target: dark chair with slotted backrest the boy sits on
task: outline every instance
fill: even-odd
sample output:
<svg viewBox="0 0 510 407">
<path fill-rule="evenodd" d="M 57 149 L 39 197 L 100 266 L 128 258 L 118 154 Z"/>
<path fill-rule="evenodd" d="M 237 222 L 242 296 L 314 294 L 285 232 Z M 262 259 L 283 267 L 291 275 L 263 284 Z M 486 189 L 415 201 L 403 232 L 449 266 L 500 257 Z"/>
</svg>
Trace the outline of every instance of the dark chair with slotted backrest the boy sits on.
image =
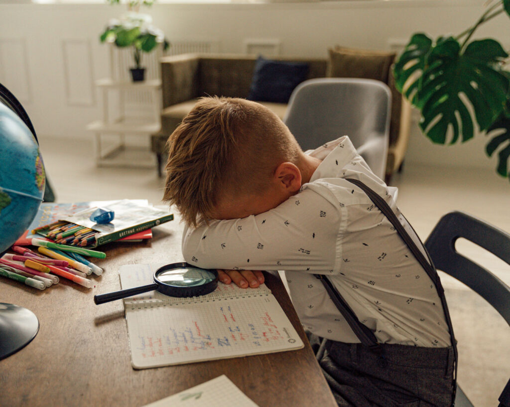
<svg viewBox="0 0 510 407">
<path fill-rule="evenodd" d="M 455 241 L 458 238 L 465 238 L 477 244 L 510 265 L 510 234 L 465 213 L 451 212 L 439 220 L 425 242 L 438 270 L 442 270 L 472 288 L 510 325 L 510 287 L 489 270 L 459 254 L 455 250 Z M 507 351 L 508 344 L 503 346 Z M 499 396 L 499 402 L 501 407 L 510 406 L 510 380 Z M 455 406 L 473 407 L 458 385 Z"/>
</svg>

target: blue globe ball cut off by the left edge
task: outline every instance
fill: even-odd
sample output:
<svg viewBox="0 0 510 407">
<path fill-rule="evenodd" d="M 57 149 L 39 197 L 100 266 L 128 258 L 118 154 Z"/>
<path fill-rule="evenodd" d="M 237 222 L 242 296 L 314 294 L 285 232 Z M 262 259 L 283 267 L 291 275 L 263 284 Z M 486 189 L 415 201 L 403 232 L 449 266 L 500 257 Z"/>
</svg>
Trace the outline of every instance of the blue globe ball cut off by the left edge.
<svg viewBox="0 0 510 407">
<path fill-rule="evenodd" d="M 0 99 L 0 253 L 12 246 L 35 218 L 45 181 L 37 140 Z"/>
</svg>

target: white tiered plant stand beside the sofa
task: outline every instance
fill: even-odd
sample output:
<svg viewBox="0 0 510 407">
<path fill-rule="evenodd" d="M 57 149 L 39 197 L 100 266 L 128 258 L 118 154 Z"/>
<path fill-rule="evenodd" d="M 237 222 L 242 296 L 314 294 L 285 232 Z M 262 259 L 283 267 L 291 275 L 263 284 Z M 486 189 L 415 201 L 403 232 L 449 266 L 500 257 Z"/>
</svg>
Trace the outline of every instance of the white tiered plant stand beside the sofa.
<svg viewBox="0 0 510 407">
<path fill-rule="evenodd" d="M 150 151 L 150 135 L 161 129 L 162 47 L 144 54 L 145 80 L 133 82 L 129 68 L 132 53 L 110 44 L 110 77 L 95 82 L 103 99 L 103 118 L 90 123 L 94 134 L 97 166 L 154 168 L 157 158 Z"/>
</svg>

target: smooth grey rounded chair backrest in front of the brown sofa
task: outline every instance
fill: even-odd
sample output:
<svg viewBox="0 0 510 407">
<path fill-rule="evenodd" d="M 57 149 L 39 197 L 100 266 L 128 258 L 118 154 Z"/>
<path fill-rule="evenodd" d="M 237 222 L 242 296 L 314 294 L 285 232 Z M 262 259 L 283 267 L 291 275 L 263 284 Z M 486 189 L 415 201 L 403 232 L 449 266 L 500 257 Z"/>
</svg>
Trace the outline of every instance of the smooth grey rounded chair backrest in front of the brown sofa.
<svg viewBox="0 0 510 407">
<path fill-rule="evenodd" d="M 384 179 L 388 155 L 391 92 L 383 82 L 319 78 L 292 93 L 284 123 L 303 150 L 348 135 L 372 171 Z"/>
</svg>

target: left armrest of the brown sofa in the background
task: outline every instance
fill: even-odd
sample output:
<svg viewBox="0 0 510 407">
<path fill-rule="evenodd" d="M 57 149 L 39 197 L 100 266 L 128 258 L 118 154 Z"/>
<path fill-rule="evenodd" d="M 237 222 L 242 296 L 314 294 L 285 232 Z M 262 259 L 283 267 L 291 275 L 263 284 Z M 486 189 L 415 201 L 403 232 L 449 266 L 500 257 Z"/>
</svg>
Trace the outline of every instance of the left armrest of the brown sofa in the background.
<svg viewBox="0 0 510 407">
<path fill-rule="evenodd" d="M 198 97 L 199 54 L 166 56 L 161 59 L 163 108 Z"/>
</svg>

